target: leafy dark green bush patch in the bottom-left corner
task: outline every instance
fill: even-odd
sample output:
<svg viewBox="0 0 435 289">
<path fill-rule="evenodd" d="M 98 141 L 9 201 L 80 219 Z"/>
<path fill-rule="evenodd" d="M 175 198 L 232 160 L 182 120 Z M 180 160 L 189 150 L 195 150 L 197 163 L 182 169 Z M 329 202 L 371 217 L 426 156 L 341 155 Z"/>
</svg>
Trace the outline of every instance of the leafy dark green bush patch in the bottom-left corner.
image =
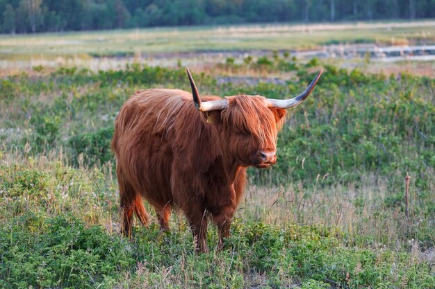
<svg viewBox="0 0 435 289">
<path fill-rule="evenodd" d="M 15 222 L 0 231 L 1 288 L 107 288 L 135 264 L 127 240 L 73 216 Z"/>
</svg>

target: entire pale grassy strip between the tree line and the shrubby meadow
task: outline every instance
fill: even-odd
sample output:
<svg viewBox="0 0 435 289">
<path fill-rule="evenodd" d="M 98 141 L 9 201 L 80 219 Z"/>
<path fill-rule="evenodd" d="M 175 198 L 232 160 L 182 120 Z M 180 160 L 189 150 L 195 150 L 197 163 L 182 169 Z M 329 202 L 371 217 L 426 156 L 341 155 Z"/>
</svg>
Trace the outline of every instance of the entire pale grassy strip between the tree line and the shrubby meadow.
<svg viewBox="0 0 435 289">
<path fill-rule="evenodd" d="M 341 24 L 263 24 L 150 28 L 38 35 L 0 35 L 0 76 L 31 71 L 33 67 L 86 67 L 92 71 L 124 69 L 133 62 L 150 66 L 195 68 L 208 73 L 227 58 L 243 63 L 247 55 L 260 58 L 273 51 L 308 61 L 336 44 L 347 49 L 435 43 L 435 22 L 358 22 Z M 309 53 L 308 55 L 306 53 Z M 354 55 L 322 56 L 324 61 L 364 73 L 413 73 L 432 76 L 435 61 L 382 62 Z M 220 71 L 231 74 L 231 71 Z M 240 73 L 241 71 L 238 71 Z M 244 75 L 253 71 L 243 71 Z M 275 71 L 268 71 L 274 73 Z M 276 73 L 274 73 L 276 74 Z M 258 77 L 254 74 L 250 76 Z M 275 76 L 275 75 L 274 75 Z M 278 73 L 282 77 L 282 73 Z"/>
</svg>

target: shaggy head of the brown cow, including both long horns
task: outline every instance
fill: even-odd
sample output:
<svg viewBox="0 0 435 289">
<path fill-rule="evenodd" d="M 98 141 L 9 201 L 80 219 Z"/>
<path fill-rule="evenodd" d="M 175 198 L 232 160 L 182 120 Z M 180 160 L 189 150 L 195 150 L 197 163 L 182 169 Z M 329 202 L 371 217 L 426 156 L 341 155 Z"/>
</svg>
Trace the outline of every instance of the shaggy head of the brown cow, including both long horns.
<svg viewBox="0 0 435 289">
<path fill-rule="evenodd" d="M 229 153 L 242 166 L 257 168 L 267 168 L 277 161 L 277 132 L 286 109 L 302 103 L 322 74 L 320 71 L 302 94 L 291 99 L 240 95 L 203 102 L 190 71 L 186 71 L 195 107 L 204 112 L 209 123 L 220 128 L 224 153 Z"/>
</svg>

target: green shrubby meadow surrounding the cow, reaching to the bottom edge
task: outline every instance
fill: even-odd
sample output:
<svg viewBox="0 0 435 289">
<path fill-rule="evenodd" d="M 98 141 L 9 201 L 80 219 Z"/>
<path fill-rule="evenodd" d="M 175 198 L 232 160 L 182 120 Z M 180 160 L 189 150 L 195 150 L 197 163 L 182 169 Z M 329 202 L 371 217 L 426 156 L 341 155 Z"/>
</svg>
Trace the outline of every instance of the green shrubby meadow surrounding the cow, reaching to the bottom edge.
<svg viewBox="0 0 435 289">
<path fill-rule="evenodd" d="M 224 250 L 212 226 L 204 254 L 181 213 L 161 232 L 148 205 L 150 227 L 136 222 L 133 239 L 122 237 L 110 152 L 124 100 L 148 87 L 188 90 L 183 67 L 3 71 L 0 287 L 434 288 L 433 76 L 286 53 L 192 72 L 203 94 L 287 98 L 320 68 L 313 94 L 288 112 L 277 164 L 249 169 Z M 246 75 L 254 80 L 235 78 Z"/>
</svg>

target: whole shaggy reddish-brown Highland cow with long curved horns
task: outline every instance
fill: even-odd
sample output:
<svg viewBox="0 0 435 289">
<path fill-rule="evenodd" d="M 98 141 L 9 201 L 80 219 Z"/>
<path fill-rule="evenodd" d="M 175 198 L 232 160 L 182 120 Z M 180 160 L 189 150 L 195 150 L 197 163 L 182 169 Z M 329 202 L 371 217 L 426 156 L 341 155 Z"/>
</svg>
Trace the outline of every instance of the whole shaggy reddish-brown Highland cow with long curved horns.
<svg viewBox="0 0 435 289">
<path fill-rule="evenodd" d="M 145 198 L 163 230 L 169 229 L 172 207 L 181 209 L 196 248 L 204 252 L 208 218 L 217 225 L 222 246 L 245 189 L 247 167 L 266 168 L 277 161 L 277 132 L 286 108 L 309 96 L 322 71 L 299 96 L 275 100 L 247 95 L 199 98 L 186 70 L 192 94 L 145 89 L 126 100 L 115 121 L 112 149 L 123 233 L 131 234 L 133 212 L 147 225 Z"/>
</svg>

